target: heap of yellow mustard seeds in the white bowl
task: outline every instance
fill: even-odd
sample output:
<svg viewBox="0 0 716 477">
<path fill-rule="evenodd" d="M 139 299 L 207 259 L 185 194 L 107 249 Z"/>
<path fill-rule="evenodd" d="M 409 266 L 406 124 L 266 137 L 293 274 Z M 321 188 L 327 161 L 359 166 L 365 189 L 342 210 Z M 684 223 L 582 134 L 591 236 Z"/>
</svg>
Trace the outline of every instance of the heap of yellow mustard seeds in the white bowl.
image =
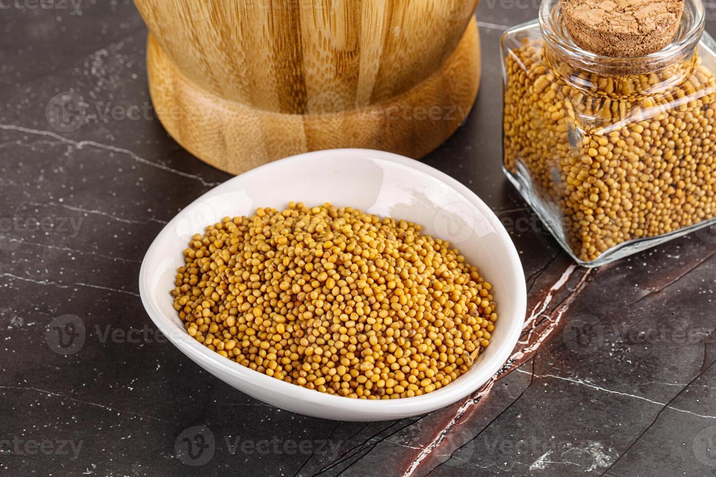
<svg viewBox="0 0 716 477">
<path fill-rule="evenodd" d="M 352 207 L 258 209 L 194 235 L 171 290 L 199 343 L 322 393 L 407 398 L 490 344 L 491 285 L 449 242 Z"/>
</svg>

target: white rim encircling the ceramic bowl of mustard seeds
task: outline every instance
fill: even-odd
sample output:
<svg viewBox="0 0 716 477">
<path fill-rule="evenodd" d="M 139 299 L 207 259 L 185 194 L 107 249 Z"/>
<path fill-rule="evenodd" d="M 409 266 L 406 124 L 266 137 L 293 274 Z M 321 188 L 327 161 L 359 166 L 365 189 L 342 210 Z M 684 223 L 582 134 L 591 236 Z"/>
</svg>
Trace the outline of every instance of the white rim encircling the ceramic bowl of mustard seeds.
<svg viewBox="0 0 716 477">
<path fill-rule="evenodd" d="M 224 358 L 216 353 L 216 351 L 210 350 L 204 345 L 198 343 L 198 341 L 188 335 L 188 333 L 177 333 L 177 330 L 173 328 L 172 324 L 165 322 L 165 314 L 155 306 L 155 303 L 153 303 L 152 300 L 154 294 L 150 292 L 151 287 L 147 279 L 147 262 L 153 255 L 162 253 L 159 250 L 160 239 L 162 239 L 165 235 L 168 235 L 170 231 L 173 230 L 174 225 L 178 222 L 178 220 L 180 220 L 181 212 L 178 212 L 178 214 L 175 215 L 175 217 L 173 217 L 162 230 L 160 230 L 147 249 L 145 257 L 142 260 L 142 266 L 139 274 L 139 289 L 142 305 L 144 305 L 147 314 L 159 330 L 168 338 L 170 343 L 175 345 L 182 353 L 195 361 L 195 363 L 198 363 L 205 370 L 208 370 L 207 368 L 221 370 L 221 372 L 234 375 L 238 379 L 247 381 L 251 380 L 254 385 L 263 388 L 263 390 L 276 391 L 277 396 L 291 394 L 296 399 L 296 402 L 306 402 L 316 406 L 324 405 L 326 406 L 326 409 L 348 408 L 356 413 L 383 415 L 386 418 L 390 418 L 391 415 L 394 415 L 399 411 L 405 411 L 407 408 L 410 408 L 412 415 L 426 413 L 430 410 L 435 410 L 437 408 L 442 408 L 445 405 L 455 403 L 456 401 L 464 398 L 466 395 L 470 395 L 475 392 L 475 390 L 478 390 L 482 385 L 487 383 L 488 380 L 490 380 L 490 378 L 492 378 L 493 375 L 495 375 L 495 373 L 503 367 L 509 359 L 512 350 L 517 345 L 526 316 L 527 292 L 522 263 L 507 230 L 505 230 L 505 227 L 503 227 L 502 223 L 498 220 L 495 212 L 493 212 L 490 207 L 488 207 L 488 205 L 486 205 L 485 202 L 478 197 L 478 195 L 469 190 L 468 187 L 465 187 L 465 185 L 458 182 L 458 180 L 455 180 L 453 177 L 448 176 L 448 174 L 440 172 L 434 167 L 430 167 L 429 165 L 417 161 L 416 159 L 410 159 L 408 157 L 392 154 L 390 152 L 378 151 L 374 149 L 324 149 L 320 151 L 306 152 L 304 154 L 297 154 L 284 159 L 278 159 L 274 162 L 269 162 L 251 169 L 243 174 L 231 177 L 231 179 L 223 182 L 221 185 L 213 187 L 203 195 L 200 195 L 200 197 L 197 197 L 195 200 L 190 202 L 190 204 L 186 205 L 183 210 L 186 210 L 188 207 L 191 207 L 197 202 L 203 202 L 208 197 L 216 195 L 223 190 L 230 189 L 232 187 L 232 183 L 250 180 L 251 177 L 261 174 L 266 169 L 281 167 L 289 162 L 305 161 L 314 157 L 326 155 L 332 155 L 336 157 L 337 160 L 370 159 L 373 161 L 392 162 L 394 164 L 400 164 L 403 167 L 415 169 L 417 172 L 427 174 L 433 179 L 451 187 L 455 190 L 455 192 L 458 192 L 459 195 L 463 196 L 464 200 L 477 209 L 480 214 L 490 220 L 495 232 L 498 234 L 500 242 L 505 245 L 507 252 L 504 257 L 505 269 L 510 270 L 510 272 L 515 275 L 514 281 L 516 282 L 516 289 L 511 290 L 510 292 L 513 296 L 513 300 L 515 300 L 514 310 L 518 317 L 514 321 L 514 324 L 511 325 L 511 328 L 508 328 L 507 335 L 505 335 L 505 339 L 500 345 L 498 353 L 490 359 L 489 364 L 483 365 L 482 369 L 480 369 L 478 373 L 470 376 L 461 376 L 463 380 L 455 380 L 449 385 L 437 389 L 432 393 L 413 396 L 410 398 L 370 400 L 347 398 L 339 395 L 321 393 L 318 390 L 312 390 L 299 385 L 286 383 L 283 380 L 278 380 L 269 375 L 259 373 L 256 370 L 252 370 L 251 368 L 236 363 L 236 361 Z M 178 316 L 169 317 L 169 320 L 172 321 L 178 319 Z M 213 374 L 211 371 L 210 373 Z M 269 401 L 269 403 L 271 402 Z M 279 405 L 279 407 L 281 406 Z"/>
</svg>

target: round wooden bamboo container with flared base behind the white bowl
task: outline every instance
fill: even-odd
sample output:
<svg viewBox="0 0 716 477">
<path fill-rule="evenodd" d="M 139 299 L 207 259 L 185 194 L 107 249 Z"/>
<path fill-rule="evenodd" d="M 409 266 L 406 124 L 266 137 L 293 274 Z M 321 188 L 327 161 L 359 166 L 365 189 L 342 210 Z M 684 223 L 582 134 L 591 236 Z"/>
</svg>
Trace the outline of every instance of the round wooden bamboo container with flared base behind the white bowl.
<svg viewBox="0 0 716 477">
<path fill-rule="evenodd" d="M 233 174 L 317 149 L 435 149 L 478 93 L 477 3 L 135 0 L 158 117 Z"/>
</svg>

